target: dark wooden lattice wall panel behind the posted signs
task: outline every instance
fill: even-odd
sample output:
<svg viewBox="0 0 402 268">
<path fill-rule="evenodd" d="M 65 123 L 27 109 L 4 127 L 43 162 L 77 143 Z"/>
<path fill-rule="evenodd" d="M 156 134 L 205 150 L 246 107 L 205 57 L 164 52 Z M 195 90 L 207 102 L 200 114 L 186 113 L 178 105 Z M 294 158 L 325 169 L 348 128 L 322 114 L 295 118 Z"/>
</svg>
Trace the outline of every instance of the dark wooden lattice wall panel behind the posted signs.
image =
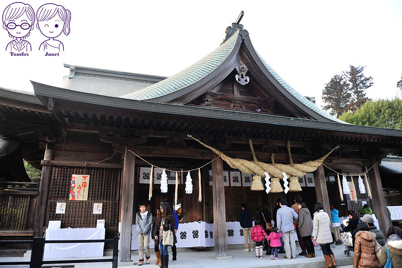
<svg viewBox="0 0 402 268">
<path fill-rule="evenodd" d="M 69 200 L 72 174 L 90 175 L 88 200 Z M 120 169 L 55 167 L 49 195 L 49 221 L 61 221 L 62 228 L 106 227 L 119 224 Z M 65 202 L 65 214 L 56 214 L 57 202 Z M 102 203 L 102 214 L 93 214 L 94 203 Z"/>
</svg>

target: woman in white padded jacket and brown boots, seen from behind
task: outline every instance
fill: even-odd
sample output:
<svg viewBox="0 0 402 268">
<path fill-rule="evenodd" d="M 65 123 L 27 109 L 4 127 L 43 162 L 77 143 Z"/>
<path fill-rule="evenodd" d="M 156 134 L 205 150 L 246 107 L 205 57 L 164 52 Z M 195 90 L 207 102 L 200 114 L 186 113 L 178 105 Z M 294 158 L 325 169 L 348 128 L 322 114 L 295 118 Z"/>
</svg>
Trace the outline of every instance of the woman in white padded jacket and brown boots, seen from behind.
<svg viewBox="0 0 402 268">
<path fill-rule="evenodd" d="M 312 235 L 323 250 L 324 258 L 327 265 L 324 268 L 337 267 L 337 262 L 335 261 L 334 252 L 331 250 L 331 243 L 334 241 L 331 234 L 331 220 L 330 216 L 324 212 L 324 207 L 321 203 L 315 203 L 314 205 L 314 218 L 312 224 Z M 332 261 L 332 264 L 331 264 Z"/>
</svg>

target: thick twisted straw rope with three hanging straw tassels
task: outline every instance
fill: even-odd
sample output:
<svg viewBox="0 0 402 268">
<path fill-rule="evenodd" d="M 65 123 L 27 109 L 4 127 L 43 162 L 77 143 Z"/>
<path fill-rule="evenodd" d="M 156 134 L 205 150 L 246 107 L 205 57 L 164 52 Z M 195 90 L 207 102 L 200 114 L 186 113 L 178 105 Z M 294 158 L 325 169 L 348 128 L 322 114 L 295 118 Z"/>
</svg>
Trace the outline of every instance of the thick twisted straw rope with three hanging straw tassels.
<svg viewBox="0 0 402 268">
<path fill-rule="evenodd" d="M 258 175 L 258 176 L 260 176 L 262 178 L 267 177 L 265 175 L 265 172 L 268 172 L 270 174 L 270 177 L 271 177 L 271 185 L 270 185 L 270 187 L 271 187 L 272 192 L 281 192 L 281 191 L 283 191 L 282 186 L 280 185 L 280 182 L 279 182 L 279 179 L 284 178 L 283 172 L 286 173 L 286 178 L 287 177 L 292 177 L 292 176 L 301 177 L 301 176 L 305 175 L 307 172 L 313 172 L 318 168 L 318 166 L 323 164 L 324 160 L 335 149 L 339 148 L 339 146 L 336 146 L 334 149 L 332 149 L 328 154 L 324 155 L 323 157 L 321 157 L 321 158 L 319 158 L 317 160 L 303 162 L 301 164 L 294 164 L 293 160 L 291 159 L 291 157 L 290 157 L 290 159 L 291 159 L 291 164 L 290 165 L 275 164 L 275 162 L 273 161 L 274 160 L 274 155 L 271 155 L 272 164 L 267 164 L 267 163 L 260 162 L 260 161 L 257 160 L 257 158 L 255 156 L 255 153 L 254 153 L 254 149 L 253 149 L 251 140 L 249 140 L 249 143 L 250 143 L 250 148 L 251 148 L 252 154 L 253 154 L 253 161 L 248 161 L 248 160 L 245 160 L 245 159 L 228 157 L 224 153 L 216 150 L 215 148 L 213 148 L 213 147 L 211 147 L 209 145 L 206 145 L 205 143 L 201 142 L 200 140 L 197 140 L 196 138 L 192 137 L 189 134 L 187 135 L 187 137 L 194 139 L 195 141 L 197 141 L 201 145 L 203 145 L 206 148 L 212 150 L 214 153 L 219 155 L 222 158 L 222 160 L 225 161 L 233 169 L 238 169 L 238 170 L 240 170 L 240 171 L 242 171 L 244 173 L 248 173 L 248 174 L 256 174 L 256 175 Z M 288 150 L 289 150 L 289 156 L 290 156 L 290 143 L 289 142 L 288 142 Z M 274 178 L 278 178 L 278 181 L 274 180 Z M 255 184 L 255 186 L 253 186 L 253 184 Z M 295 182 L 293 182 L 291 186 L 294 187 L 291 190 L 294 190 L 294 191 L 299 190 L 299 188 L 295 186 Z M 253 177 L 252 190 L 253 189 L 264 190 L 264 186 L 263 186 L 261 180 L 257 176 Z M 289 188 L 289 190 L 290 190 L 290 188 Z M 300 188 L 300 190 L 301 190 L 301 188 Z"/>
</svg>

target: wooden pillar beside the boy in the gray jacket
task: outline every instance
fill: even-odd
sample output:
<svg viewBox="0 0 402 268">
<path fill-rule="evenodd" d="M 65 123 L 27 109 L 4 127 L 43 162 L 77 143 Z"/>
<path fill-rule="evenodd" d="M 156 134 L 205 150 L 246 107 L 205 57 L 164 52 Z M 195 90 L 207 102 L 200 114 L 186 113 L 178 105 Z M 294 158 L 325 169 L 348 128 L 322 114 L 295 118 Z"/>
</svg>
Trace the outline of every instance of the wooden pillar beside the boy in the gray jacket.
<svg viewBox="0 0 402 268">
<path fill-rule="evenodd" d="M 134 203 L 134 170 L 135 156 L 126 146 L 124 152 L 123 177 L 121 180 L 121 225 L 119 262 L 131 261 L 131 227 L 133 222 Z"/>
</svg>

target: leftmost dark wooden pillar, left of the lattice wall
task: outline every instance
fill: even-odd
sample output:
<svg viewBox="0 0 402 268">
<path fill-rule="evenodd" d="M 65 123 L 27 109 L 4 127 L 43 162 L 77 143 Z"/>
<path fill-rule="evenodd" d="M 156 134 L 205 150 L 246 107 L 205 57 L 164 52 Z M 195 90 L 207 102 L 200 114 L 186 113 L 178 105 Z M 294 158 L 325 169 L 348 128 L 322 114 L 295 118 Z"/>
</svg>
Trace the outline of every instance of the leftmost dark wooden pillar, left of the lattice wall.
<svg viewBox="0 0 402 268">
<path fill-rule="evenodd" d="M 53 160 L 54 149 L 53 144 L 47 144 L 43 160 Z M 49 187 L 52 180 L 53 166 L 43 166 L 42 175 L 39 184 L 38 203 L 35 208 L 34 220 L 34 237 L 43 237 L 43 227 L 45 224 L 45 217 L 47 212 L 47 204 L 49 199 Z"/>
</svg>

